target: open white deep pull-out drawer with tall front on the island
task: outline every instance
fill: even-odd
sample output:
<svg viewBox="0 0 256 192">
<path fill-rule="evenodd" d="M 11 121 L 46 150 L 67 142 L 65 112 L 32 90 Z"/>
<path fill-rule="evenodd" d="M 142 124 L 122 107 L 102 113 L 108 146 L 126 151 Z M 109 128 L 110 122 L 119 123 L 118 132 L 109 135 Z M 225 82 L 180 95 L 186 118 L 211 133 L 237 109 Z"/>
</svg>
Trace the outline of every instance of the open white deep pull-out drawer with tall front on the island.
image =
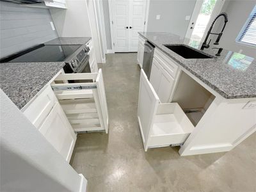
<svg viewBox="0 0 256 192">
<path fill-rule="evenodd" d="M 149 147 L 181 145 L 195 128 L 178 103 L 161 104 L 141 69 L 138 122 L 145 151 Z"/>
</svg>

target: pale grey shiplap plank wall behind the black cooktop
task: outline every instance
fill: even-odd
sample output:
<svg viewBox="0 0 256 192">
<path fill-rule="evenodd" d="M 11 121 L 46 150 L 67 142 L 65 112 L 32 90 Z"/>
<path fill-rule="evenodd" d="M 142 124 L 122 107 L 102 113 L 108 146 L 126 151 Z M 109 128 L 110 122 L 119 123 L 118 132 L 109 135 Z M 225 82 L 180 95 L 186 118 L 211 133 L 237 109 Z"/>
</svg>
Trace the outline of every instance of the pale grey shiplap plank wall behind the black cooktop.
<svg viewBox="0 0 256 192">
<path fill-rule="evenodd" d="M 50 22 L 47 9 L 0 1 L 0 58 L 57 38 Z"/>
</svg>

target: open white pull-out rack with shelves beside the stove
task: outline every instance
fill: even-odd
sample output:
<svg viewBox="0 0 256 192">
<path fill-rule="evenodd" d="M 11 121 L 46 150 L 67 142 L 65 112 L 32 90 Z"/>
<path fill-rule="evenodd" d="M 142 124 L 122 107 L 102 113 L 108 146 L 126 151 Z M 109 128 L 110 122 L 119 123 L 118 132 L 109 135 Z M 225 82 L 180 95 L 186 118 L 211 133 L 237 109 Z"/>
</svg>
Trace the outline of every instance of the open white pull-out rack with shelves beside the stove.
<svg viewBox="0 0 256 192">
<path fill-rule="evenodd" d="M 60 74 L 51 87 L 74 131 L 108 133 L 108 107 L 101 69 L 97 73 Z"/>
</svg>

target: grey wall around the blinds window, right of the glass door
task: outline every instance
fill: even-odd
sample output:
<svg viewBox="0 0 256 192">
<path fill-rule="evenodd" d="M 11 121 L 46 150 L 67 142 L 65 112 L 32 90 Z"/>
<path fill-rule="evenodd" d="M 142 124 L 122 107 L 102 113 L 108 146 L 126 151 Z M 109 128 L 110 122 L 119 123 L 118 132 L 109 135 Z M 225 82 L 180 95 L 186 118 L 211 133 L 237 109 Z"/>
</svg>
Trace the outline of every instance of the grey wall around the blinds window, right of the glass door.
<svg viewBox="0 0 256 192">
<path fill-rule="evenodd" d="M 225 2 L 223 9 L 221 12 L 226 12 L 228 15 L 227 27 L 223 32 L 223 36 L 220 40 L 219 47 L 223 47 L 230 51 L 239 52 L 243 50 L 243 54 L 247 54 L 248 56 L 256 57 L 256 47 L 243 45 L 236 43 L 237 35 L 243 28 L 248 16 L 253 10 L 256 1 L 227 1 Z M 218 22 L 220 23 L 220 22 Z M 221 31 L 223 26 L 223 22 L 220 24 L 218 31 Z"/>
</svg>

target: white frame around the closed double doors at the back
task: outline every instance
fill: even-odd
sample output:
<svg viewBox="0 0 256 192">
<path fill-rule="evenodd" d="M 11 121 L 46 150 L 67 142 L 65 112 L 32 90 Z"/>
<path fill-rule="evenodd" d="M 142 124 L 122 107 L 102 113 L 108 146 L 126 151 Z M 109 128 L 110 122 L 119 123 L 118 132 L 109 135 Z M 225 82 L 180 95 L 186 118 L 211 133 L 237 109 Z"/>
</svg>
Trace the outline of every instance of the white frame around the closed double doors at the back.
<svg viewBox="0 0 256 192">
<path fill-rule="evenodd" d="M 143 0 L 146 1 L 146 14 L 145 14 L 145 24 L 144 24 L 144 31 L 143 32 L 147 32 L 147 28 L 148 28 L 148 13 L 149 13 L 149 4 L 150 4 L 150 0 Z M 115 53 L 115 45 L 114 45 L 114 29 L 113 29 L 113 14 L 112 14 L 112 0 L 108 0 L 108 9 L 109 9 L 109 26 L 110 26 L 110 33 L 111 33 L 111 49 L 108 50 L 108 53 Z"/>
</svg>

